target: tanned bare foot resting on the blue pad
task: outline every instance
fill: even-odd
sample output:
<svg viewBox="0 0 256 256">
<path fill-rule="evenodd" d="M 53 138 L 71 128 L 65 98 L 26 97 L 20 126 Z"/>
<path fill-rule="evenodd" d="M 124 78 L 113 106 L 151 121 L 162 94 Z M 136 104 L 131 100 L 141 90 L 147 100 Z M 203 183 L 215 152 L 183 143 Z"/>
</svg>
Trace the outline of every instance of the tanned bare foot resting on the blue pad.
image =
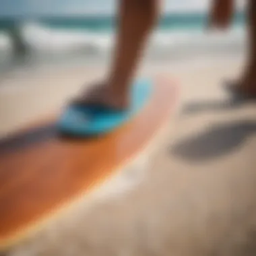
<svg viewBox="0 0 256 256">
<path fill-rule="evenodd" d="M 129 95 L 125 92 L 114 90 L 108 84 L 96 84 L 88 92 L 76 98 L 73 103 L 80 105 L 99 105 L 113 108 L 115 110 L 125 110 L 129 106 Z"/>
</svg>

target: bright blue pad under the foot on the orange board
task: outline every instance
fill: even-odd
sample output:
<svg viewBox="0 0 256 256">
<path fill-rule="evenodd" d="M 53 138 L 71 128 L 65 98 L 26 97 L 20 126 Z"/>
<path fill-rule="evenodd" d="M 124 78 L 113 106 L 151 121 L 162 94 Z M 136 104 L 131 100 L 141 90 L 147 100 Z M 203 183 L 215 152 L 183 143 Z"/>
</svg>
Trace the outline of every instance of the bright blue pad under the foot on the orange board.
<svg viewBox="0 0 256 256">
<path fill-rule="evenodd" d="M 144 79 L 133 84 L 131 103 L 127 110 L 111 110 L 104 106 L 68 105 L 58 121 L 62 133 L 90 136 L 109 133 L 129 121 L 150 100 L 153 82 Z"/>
</svg>

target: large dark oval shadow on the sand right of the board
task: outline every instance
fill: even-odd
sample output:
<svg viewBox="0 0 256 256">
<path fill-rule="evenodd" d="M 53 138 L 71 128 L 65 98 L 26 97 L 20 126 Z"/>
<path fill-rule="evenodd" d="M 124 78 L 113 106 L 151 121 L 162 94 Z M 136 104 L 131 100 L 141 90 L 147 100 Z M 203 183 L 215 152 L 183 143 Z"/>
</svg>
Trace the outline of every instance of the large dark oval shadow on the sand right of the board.
<svg viewBox="0 0 256 256">
<path fill-rule="evenodd" d="M 256 122 L 239 121 L 216 125 L 203 134 L 197 133 L 170 148 L 174 156 L 189 161 L 212 160 L 241 146 L 256 132 Z"/>
</svg>

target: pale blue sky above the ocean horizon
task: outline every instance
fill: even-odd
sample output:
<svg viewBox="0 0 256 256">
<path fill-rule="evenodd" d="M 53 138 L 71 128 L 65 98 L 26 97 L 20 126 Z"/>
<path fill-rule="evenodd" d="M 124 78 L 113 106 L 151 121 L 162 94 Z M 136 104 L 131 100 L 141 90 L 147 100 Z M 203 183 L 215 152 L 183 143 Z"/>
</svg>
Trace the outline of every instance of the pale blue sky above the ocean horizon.
<svg viewBox="0 0 256 256">
<path fill-rule="evenodd" d="M 119 0 L 0 0 L 3 15 L 77 15 L 115 13 Z M 162 0 L 164 12 L 205 11 L 212 0 Z M 237 0 L 239 5 L 243 0 Z"/>
</svg>

